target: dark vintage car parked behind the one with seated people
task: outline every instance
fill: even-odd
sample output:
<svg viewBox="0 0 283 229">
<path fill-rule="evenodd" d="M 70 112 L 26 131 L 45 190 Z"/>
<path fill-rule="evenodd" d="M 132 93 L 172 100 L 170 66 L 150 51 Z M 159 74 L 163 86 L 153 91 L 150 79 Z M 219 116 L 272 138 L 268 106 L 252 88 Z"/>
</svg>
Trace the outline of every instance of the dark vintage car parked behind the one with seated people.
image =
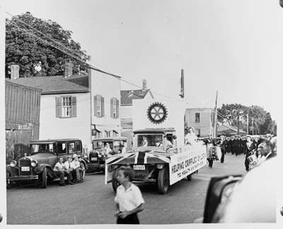
<svg viewBox="0 0 283 229">
<path fill-rule="evenodd" d="M 89 153 L 89 164 L 88 170 L 101 169 L 104 171 L 105 168 L 105 146 L 109 143 L 111 151 L 109 154 L 114 155 L 122 153 L 122 146 L 127 144 L 126 137 L 113 137 L 105 139 L 93 140 L 93 151 Z"/>
</svg>

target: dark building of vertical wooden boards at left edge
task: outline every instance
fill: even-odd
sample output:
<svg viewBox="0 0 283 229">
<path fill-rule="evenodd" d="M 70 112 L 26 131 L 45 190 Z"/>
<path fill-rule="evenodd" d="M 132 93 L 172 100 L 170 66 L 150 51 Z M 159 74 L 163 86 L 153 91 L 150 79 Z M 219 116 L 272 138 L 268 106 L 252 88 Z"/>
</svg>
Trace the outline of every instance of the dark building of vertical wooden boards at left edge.
<svg viewBox="0 0 283 229">
<path fill-rule="evenodd" d="M 39 137 L 41 91 L 5 81 L 7 163 L 23 155 L 28 142 Z"/>
</svg>

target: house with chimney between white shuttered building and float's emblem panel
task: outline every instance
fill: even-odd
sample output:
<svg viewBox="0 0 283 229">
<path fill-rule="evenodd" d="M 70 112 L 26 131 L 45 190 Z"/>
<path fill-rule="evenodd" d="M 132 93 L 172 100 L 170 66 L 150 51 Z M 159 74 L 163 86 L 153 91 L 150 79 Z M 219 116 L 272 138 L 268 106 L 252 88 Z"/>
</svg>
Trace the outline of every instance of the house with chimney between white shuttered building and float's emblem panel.
<svg viewBox="0 0 283 229">
<path fill-rule="evenodd" d="M 121 90 L 121 126 L 122 136 L 132 140 L 132 100 L 142 100 L 144 98 L 154 98 L 151 90 L 146 88 L 146 80 L 143 80 L 143 86 L 140 90 Z M 128 148 L 132 148 L 132 142 L 128 143 Z"/>
</svg>

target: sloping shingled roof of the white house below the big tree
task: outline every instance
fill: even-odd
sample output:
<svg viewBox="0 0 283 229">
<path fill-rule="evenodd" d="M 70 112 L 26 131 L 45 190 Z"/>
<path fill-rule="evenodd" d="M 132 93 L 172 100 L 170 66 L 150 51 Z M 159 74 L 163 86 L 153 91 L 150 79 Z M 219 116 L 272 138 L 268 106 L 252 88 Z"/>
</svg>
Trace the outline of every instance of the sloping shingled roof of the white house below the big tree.
<svg viewBox="0 0 283 229">
<path fill-rule="evenodd" d="M 40 88 L 42 95 L 89 92 L 88 75 L 74 75 L 68 78 L 64 78 L 64 76 L 35 76 L 8 79 L 8 81 L 23 86 Z"/>
</svg>

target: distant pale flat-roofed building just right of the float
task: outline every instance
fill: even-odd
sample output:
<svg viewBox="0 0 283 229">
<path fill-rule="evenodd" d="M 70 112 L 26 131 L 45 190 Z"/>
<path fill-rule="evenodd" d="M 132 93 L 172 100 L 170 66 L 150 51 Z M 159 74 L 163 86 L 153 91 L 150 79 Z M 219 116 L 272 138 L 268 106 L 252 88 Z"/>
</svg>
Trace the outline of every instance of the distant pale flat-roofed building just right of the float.
<svg viewBox="0 0 283 229">
<path fill-rule="evenodd" d="M 187 108 L 185 123 L 195 128 L 195 134 L 200 137 L 214 133 L 214 110 L 212 108 Z"/>
</svg>

